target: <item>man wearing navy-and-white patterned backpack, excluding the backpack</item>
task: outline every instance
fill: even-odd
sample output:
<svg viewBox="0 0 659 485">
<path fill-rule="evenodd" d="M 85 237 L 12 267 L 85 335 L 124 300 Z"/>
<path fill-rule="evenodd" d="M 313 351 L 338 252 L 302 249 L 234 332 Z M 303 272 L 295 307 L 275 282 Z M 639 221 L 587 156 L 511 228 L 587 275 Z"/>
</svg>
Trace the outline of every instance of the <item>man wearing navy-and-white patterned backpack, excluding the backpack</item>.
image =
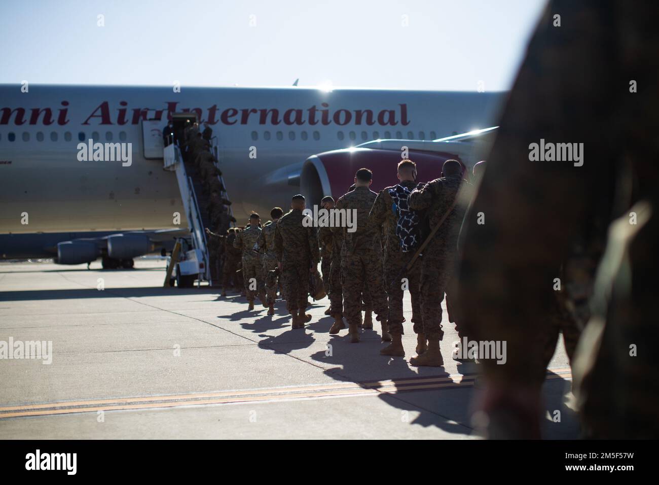
<svg viewBox="0 0 659 485">
<path fill-rule="evenodd" d="M 411 160 L 403 160 L 398 165 L 398 176 L 401 179 L 401 187 L 413 191 L 416 187 L 416 165 Z M 426 336 L 423 332 L 420 298 L 421 261 L 416 261 L 409 271 L 405 267 L 412 259 L 415 251 L 403 251 L 401 240 L 396 234 L 396 225 L 400 216 L 393 198 L 389 191 L 395 190 L 395 186 L 385 187 L 378 194 L 369 218 L 371 222 L 382 228 L 384 232 L 384 281 L 389 299 L 389 333 L 392 342 L 380 353 L 389 356 L 405 356 L 403 349 L 403 278 L 407 279 L 412 300 L 412 322 L 414 331 L 418 335 L 417 354 L 422 354 L 426 348 Z"/>
</svg>

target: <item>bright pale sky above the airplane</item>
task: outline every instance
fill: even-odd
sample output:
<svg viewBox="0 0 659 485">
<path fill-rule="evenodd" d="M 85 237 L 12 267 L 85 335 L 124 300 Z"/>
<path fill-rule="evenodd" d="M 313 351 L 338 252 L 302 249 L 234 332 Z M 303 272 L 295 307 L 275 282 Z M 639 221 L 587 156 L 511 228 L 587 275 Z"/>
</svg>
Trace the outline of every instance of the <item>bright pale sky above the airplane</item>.
<svg viewBox="0 0 659 485">
<path fill-rule="evenodd" d="M 2 1 L 0 82 L 507 90 L 544 4 Z"/>
</svg>

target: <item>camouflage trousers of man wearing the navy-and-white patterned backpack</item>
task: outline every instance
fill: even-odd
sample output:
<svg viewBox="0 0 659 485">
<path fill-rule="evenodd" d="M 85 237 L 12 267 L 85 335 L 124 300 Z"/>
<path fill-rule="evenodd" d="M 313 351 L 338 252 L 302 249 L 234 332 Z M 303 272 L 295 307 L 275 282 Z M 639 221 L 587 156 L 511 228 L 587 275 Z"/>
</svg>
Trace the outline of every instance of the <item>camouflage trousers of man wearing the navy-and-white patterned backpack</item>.
<svg viewBox="0 0 659 485">
<path fill-rule="evenodd" d="M 403 292 L 405 287 L 412 297 L 412 323 L 415 333 L 423 333 L 421 313 L 421 268 L 423 262 L 417 258 L 413 267 L 405 271 L 405 267 L 415 255 L 415 251 L 385 251 L 384 281 L 389 299 L 389 332 L 403 335 Z M 404 278 L 404 279 L 403 279 Z"/>
</svg>

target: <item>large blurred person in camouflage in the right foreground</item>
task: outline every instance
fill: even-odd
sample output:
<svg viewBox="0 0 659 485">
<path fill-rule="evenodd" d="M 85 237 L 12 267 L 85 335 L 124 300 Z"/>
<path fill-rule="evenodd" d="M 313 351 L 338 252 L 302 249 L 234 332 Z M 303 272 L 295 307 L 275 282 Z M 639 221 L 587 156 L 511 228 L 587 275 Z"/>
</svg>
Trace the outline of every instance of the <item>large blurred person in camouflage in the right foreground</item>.
<svg viewBox="0 0 659 485">
<path fill-rule="evenodd" d="M 659 437 L 657 18 L 656 2 L 552 1 L 530 41 L 461 263 L 461 325 L 507 342 L 505 365 L 482 360 L 489 437 L 540 436 L 547 350 L 562 331 L 571 354 L 585 320 L 573 358 L 585 436 Z"/>
</svg>

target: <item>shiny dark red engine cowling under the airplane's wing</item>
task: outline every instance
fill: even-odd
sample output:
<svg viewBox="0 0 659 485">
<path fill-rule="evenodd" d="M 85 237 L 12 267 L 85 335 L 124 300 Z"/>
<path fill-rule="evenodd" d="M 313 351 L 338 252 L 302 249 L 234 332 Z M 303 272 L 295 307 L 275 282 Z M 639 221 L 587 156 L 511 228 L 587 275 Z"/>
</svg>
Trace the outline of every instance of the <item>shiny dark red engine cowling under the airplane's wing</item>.
<svg viewBox="0 0 659 485">
<path fill-rule="evenodd" d="M 440 177 L 442 165 L 451 158 L 461 160 L 445 152 L 421 152 L 410 150 L 409 158 L 416 163 L 416 180 L 427 182 Z M 355 181 L 355 172 L 368 168 L 373 172 L 371 190 L 378 192 L 398 183 L 396 167 L 401 152 L 379 148 L 345 148 L 312 155 L 302 165 L 300 189 L 306 197 L 307 207 L 320 204 L 320 199 L 331 195 L 336 200 L 345 194 Z M 465 165 L 463 164 L 463 173 Z"/>
</svg>

